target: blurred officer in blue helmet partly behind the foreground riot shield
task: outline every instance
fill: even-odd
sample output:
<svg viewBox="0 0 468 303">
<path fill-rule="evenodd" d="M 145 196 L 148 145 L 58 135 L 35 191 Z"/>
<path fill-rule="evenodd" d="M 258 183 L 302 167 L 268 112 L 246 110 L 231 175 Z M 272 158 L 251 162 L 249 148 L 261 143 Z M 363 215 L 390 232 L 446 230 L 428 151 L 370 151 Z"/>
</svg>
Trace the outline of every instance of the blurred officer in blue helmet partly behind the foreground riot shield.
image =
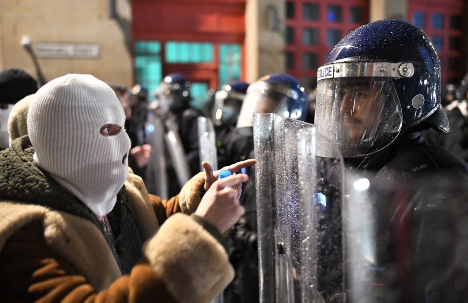
<svg viewBox="0 0 468 303">
<path fill-rule="evenodd" d="M 249 159 L 254 157 L 254 113 L 281 114 L 304 121 L 307 116 L 307 96 L 299 81 L 286 74 L 263 76 L 247 88 L 234 131 L 225 143 L 225 158 Z M 219 163 L 220 167 L 224 163 Z M 258 303 L 258 252 L 255 198 L 255 171 L 247 170 L 249 182 L 242 186 L 240 204 L 245 213 L 231 228 L 228 246 L 236 275 L 224 290 L 226 303 Z"/>
</svg>

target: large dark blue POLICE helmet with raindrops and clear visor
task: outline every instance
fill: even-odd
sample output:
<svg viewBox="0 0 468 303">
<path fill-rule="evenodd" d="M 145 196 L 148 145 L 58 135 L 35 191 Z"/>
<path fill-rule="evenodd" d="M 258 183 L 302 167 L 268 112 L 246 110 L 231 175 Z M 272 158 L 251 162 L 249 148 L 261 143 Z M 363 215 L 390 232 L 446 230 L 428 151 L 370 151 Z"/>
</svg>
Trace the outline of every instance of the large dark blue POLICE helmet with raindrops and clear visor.
<svg viewBox="0 0 468 303">
<path fill-rule="evenodd" d="M 405 20 L 379 20 L 343 38 L 317 73 L 317 135 L 345 157 L 377 152 L 402 130 L 448 133 L 440 60 L 429 37 Z"/>
</svg>

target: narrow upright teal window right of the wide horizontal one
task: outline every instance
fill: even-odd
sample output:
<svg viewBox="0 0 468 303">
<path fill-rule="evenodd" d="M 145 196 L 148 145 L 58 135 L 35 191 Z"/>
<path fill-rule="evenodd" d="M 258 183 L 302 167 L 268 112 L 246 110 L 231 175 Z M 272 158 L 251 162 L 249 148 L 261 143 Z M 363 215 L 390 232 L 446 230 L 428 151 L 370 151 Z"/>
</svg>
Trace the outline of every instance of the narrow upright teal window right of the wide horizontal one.
<svg viewBox="0 0 468 303">
<path fill-rule="evenodd" d="M 240 44 L 220 44 L 219 45 L 219 86 L 238 81 L 241 75 L 240 64 Z"/>
</svg>

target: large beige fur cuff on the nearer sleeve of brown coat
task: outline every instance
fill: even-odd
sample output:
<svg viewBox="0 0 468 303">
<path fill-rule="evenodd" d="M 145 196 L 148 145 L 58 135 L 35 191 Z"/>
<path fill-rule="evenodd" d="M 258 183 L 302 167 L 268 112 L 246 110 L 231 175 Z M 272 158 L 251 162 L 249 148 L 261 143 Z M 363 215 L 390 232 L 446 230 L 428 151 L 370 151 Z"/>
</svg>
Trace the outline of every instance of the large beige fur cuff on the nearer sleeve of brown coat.
<svg viewBox="0 0 468 303">
<path fill-rule="evenodd" d="M 201 225 L 177 213 L 143 252 L 178 302 L 210 302 L 234 278 L 224 247 Z"/>
</svg>

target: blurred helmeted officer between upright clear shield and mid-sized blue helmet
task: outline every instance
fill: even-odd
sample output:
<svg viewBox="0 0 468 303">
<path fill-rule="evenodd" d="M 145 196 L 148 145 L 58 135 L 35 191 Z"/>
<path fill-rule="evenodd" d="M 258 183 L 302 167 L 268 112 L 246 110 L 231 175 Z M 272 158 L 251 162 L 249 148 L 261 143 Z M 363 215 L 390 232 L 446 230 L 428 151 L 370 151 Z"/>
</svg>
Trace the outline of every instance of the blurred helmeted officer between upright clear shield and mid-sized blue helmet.
<svg viewBox="0 0 468 303">
<path fill-rule="evenodd" d="M 245 81 L 233 81 L 223 85 L 215 93 L 214 106 L 210 116 L 212 116 L 215 127 L 218 162 L 229 162 L 229 159 L 225 159 L 225 141 L 228 134 L 235 129 L 248 86 L 249 83 Z"/>
</svg>

